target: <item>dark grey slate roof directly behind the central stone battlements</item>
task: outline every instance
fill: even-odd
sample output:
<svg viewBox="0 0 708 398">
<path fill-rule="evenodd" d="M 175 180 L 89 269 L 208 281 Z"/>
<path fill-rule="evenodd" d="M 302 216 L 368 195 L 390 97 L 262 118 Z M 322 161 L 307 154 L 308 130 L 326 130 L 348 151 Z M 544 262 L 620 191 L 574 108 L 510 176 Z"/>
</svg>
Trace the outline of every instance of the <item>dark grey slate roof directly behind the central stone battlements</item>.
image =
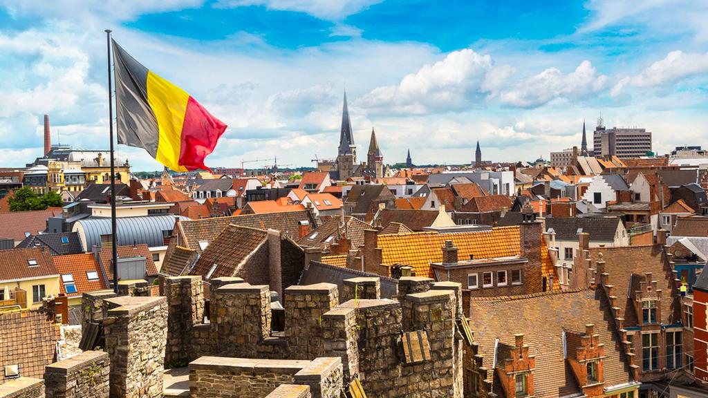
<svg viewBox="0 0 708 398">
<path fill-rule="evenodd" d="M 381 298 L 392 298 L 394 295 L 398 294 L 398 280 L 394 278 L 332 266 L 330 264 L 320 263 L 319 261 L 310 261 L 309 267 L 302 271 L 302 276 L 297 284 L 314 285 L 315 283 L 324 282 L 334 283 L 337 285 L 341 295 L 343 280 L 360 278 L 362 276 L 381 279 Z"/>
</svg>

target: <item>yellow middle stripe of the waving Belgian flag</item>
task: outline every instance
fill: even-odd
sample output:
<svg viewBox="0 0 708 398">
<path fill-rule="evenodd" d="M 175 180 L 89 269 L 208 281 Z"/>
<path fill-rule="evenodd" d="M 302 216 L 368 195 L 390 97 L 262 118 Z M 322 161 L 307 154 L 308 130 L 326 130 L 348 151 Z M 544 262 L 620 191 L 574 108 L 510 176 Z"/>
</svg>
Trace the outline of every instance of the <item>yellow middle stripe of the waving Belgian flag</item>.
<svg viewBox="0 0 708 398">
<path fill-rule="evenodd" d="M 155 159 L 174 171 L 187 171 L 178 162 L 188 101 L 189 94 L 183 89 L 152 71 L 147 72 L 147 102 L 155 113 L 160 130 Z"/>
</svg>

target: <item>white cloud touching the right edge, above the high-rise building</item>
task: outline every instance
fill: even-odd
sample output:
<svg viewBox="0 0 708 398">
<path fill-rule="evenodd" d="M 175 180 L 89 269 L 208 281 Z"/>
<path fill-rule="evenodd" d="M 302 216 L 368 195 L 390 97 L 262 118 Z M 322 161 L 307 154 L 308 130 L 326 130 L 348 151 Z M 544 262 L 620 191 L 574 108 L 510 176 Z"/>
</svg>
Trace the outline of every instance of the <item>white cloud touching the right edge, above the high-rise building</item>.
<svg viewBox="0 0 708 398">
<path fill-rule="evenodd" d="M 628 85 L 640 88 L 663 86 L 707 72 L 708 52 L 695 54 L 680 50 L 672 51 L 663 59 L 646 67 L 640 74 L 619 80 L 612 87 L 612 96 L 619 95 Z"/>
</svg>

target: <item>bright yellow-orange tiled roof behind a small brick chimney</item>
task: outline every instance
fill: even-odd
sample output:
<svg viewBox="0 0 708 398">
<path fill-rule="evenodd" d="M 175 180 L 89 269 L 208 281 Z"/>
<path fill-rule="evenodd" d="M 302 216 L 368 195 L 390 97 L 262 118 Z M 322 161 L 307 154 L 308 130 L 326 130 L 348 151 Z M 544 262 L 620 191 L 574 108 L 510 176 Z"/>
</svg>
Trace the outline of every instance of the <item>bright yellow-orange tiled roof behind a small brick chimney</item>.
<svg viewBox="0 0 708 398">
<path fill-rule="evenodd" d="M 451 240 L 457 247 L 459 258 L 496 258 L 520 255 L 520 234 L 518 225 L 498 227 L 491 231 L 460 232 L 439 234 L 438 232 L 415 232 L 405 235 L 378 237 L 378 247 L 382 249 L 382 263 L 412 266 L 418 276 L 433 278 L 430 263 L 442 261 L 442 246 Z"/>
</svg>

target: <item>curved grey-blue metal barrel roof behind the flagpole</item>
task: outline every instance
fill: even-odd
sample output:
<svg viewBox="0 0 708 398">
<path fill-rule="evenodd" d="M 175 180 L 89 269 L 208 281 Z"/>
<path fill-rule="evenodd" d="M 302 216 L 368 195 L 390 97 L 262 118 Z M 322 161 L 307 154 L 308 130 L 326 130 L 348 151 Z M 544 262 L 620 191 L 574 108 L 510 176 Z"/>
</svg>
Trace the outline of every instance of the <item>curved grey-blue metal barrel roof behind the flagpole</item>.
<svg viewBox="0 0 708 398">
<path fill-rule="evenodd" d="M 181 220 L 189 220 L 180 216 Z M 164 246 L 162 231 L 172 230 L 174 215 L 150 215 L 147 217 L 123 217 L 116 221 L 118 245 L 147 244 L 149 247 Z M 84 227 L 86 247 L 101 245 L 101 235 L 110 234 L 110 218 L 89 218 L 77 221 Z"/>
</svg>

